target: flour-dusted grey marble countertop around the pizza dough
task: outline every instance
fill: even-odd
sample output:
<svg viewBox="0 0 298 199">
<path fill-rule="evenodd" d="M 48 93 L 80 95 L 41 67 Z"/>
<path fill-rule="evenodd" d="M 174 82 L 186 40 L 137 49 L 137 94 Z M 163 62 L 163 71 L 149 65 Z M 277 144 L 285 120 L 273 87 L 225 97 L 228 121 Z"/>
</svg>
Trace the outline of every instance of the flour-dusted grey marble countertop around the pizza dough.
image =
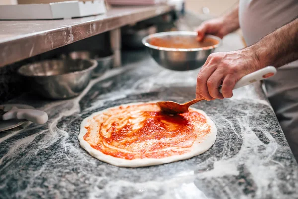
<svg viewBox="0 0 298 199">
<path fill-rule="evenodd" d="M 235 50 L 240 43 L 231 35 L 219 50 Z M 298 165 L 259 83 L 235 90 L 231 99 L 194 105 L 218 129 L 215 144 L 199 156 L 120 168 L 89 155 L 78 134 L 91 113 L 130 102 L 194 98 L 198 70 L 165 70 L 143 51 L 123 56 L 125 67 L 93 79 L 77 98 L 50 101 L 24 94 L 9 101 L 44 110 L 49 121 L 0 133 L 0 198 L 298 198 Z"/>
</svg>

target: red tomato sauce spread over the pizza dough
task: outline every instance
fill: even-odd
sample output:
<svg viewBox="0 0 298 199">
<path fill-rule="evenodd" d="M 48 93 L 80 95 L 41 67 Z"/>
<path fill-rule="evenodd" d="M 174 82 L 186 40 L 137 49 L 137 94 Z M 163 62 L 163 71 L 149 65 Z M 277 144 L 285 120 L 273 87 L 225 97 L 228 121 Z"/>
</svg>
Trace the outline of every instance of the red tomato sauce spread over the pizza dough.
<svg viewBox="0 0 298 199">
<path fill-rule="evenodd" d="M 198 137 L 210 132 L 210 126 L 201 128 L 206 126 L 202 114 L 169 115 L 154 103 L 111 108 L 89 123 L 84 140 L 91 147 L 127 160 L 187 153 Z"/>
</svg>

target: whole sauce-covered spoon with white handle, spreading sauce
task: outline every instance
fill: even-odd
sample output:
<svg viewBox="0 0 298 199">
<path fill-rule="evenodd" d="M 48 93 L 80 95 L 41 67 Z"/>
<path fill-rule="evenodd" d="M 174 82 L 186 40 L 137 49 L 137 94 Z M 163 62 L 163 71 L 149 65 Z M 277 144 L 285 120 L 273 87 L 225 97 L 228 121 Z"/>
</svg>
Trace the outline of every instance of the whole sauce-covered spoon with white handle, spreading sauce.
<svg viewBox="0 0 298 199">
<path fill-rule="evenodd" d="M 266 78 L 273 76 L 276 73 L 276 68 L 273 66 L 267 66 L 263 69 L 250 73 L 248 75 L 243 76 L 235 85 L 234 89 L 249 85 L 253 82 L 260 81 Z M 219 88 L 219 91 L 222 93 L 222 88 Z M 170 114 L 182 114 L 188 112 L 189 106 L 205 100 L 202 99 L 194 99 L 189 102 L 179 104 L 173 101 L 160 101 L 156 104 L 159 106 L 161 111 L 168 112 Z"/>
</svg>

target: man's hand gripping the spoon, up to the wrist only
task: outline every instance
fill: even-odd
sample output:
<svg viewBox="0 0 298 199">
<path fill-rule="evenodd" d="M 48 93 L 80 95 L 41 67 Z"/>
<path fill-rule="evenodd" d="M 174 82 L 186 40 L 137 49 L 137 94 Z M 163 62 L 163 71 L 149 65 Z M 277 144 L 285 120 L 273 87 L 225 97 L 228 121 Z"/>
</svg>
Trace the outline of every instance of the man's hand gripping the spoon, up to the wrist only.
<svg viewBox="0 0 298 199">
<path fill-rule="evenodd" d="M 196 98 L 207 101 L 233 96 L 235 84 L 245 75 L 265 67 L 252 48 L 211 54 L 197 77 Z M 219 86 L 222 85 L 222 94 Z"/>
</svg>

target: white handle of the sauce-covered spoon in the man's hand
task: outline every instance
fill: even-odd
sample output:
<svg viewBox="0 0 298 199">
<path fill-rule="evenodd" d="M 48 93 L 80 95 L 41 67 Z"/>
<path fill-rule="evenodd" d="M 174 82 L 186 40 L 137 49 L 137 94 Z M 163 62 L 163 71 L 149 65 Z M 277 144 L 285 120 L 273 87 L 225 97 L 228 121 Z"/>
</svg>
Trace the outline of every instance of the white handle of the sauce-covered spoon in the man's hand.
<svg viewBox="0 0 298 199">
<path fill-rule="evenodd" d="M 250 73 L 248 75 L 243 76 L 235 85 L 234 89 L 238 89 L 240 87 L 244 87 L 246 85 L 249 85 L 251 83 L 264 80 L 266 78 L 269 78 L 276 73 L 276 68 L 273 66 L 267 66 L 265 68 L 262 68 L 258 71 L 255 71 L 253 73 Z M 220 93 L 222 93 L 222 86 L 220 87 Z"/>
</svg>

